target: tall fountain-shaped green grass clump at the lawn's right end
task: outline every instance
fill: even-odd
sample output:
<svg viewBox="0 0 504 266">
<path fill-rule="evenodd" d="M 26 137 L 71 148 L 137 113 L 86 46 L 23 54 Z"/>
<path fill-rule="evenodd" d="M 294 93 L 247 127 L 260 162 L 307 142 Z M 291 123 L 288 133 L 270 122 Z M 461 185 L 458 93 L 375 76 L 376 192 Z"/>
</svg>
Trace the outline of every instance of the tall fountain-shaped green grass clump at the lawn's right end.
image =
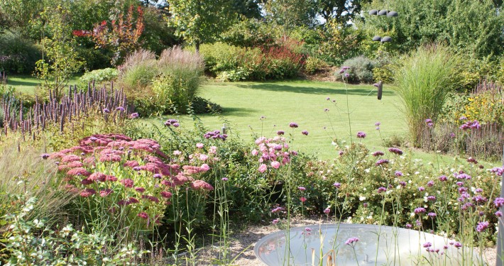
<svg viewBox="0 0 504 266">
<path fill-rule="evenodd" d="M 459 84 L 459 60 L 446 46 L 433 44 L 418 48 L 395 67 L 395 90 L 415 147 L 421 145 L 425 119 L 437 121 L 447 94 Z"/>
</svg>

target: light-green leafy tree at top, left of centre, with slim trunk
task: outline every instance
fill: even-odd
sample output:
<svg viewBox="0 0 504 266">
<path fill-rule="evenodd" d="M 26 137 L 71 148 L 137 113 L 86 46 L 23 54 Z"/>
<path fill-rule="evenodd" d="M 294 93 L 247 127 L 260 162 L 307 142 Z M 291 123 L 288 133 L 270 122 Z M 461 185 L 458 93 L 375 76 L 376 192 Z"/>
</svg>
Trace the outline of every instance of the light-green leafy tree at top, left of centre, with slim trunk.
<svg viewBox="0 0 504 266">
<path fill-rule="evenodd" d="M 175 26 L 175 34 L 195 45 L 211 43 L 231 21 L 229 0 L 172 0 L 168 23 Z"/>
</svg>

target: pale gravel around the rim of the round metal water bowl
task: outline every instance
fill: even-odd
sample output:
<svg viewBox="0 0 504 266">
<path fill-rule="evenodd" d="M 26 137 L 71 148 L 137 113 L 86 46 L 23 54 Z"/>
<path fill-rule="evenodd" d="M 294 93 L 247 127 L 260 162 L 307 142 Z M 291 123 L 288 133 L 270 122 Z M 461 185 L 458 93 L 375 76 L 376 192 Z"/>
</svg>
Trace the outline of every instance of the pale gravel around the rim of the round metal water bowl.
<svg viewBox="0 0 504 266">
<path fill-rule="evenodd" d="M 327 220 L 321 218 L 296 218 L 291 221 L 292 227 L 309 226 L 314 224 L 327 223 Z M 258 240 L 265 235 L 278 231 L 278 228 L 273 225 L 268 226 L 248 226 L 245 231 L 235 233 L 231 236 L 231 243 L 229 245 L 229 257 L 234 260 L 231 265 L 239 266 L 262 266 L 264 265 L 261 260 L 256 258 L 253 252 L 254 245 Z M 215 246 L 214 246 L 215 247 Z M 218 256 L 218 247 L 202 248 L 199 250 L 197 257 L 199 261 L 197 265 L 214 265 L 212 258 Z M 483 251 L 483 258 L 489 266 L 495 265 L 496 248 L 486 248 Z"/>
</svg>

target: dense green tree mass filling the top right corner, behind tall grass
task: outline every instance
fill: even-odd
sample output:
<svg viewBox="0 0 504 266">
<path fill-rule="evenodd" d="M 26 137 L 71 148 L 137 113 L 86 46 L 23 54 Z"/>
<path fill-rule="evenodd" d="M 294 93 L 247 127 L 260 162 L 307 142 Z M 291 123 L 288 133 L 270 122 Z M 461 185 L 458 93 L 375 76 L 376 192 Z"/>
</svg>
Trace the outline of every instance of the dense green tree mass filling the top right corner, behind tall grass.
<svg viewBox="0 0 504 266">
<path fill-rule="evenodd" d="M 475 57 L 503 52 L 504 16 L 491 0 L 380 0 L 367 8 L 384 6 L 399 16 L 366 16 L 366 27 L 374 35 L 389 31 L 401 52 L 432 42 Z"/>
</svg>

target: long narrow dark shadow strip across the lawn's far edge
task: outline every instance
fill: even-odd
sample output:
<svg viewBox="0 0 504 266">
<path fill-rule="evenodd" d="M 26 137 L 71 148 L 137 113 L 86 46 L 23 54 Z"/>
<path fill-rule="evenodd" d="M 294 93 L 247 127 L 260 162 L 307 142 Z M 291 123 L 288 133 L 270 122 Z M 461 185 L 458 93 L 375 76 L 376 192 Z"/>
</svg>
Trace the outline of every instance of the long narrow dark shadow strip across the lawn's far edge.
<svg viewBox="0 0 504 266">
<path fill-rule="evenodd" d="M 346 90 L 344 88 L 320 88 L 320 87 L 297 87 L 297 86 L 289 86 L 284 84 L 274 84 L 274 83 L 264 83 L 264 84 L 238 84 L 238 87 L 243 87 L 247 89 L 263 89 L 271 92 L 295 92 L 300 94 L 346 94 Z M 367 84 L 363 86 L 369 86 Z M 374 89 L 374 92 L 373 92 Z M 368 89 L 349 87 L 349 95 L 376 95 L 376 88 L 369 86 Z M 384 91 L 383 95 L 393 95 L 393 92 Z"/>
</svg>

